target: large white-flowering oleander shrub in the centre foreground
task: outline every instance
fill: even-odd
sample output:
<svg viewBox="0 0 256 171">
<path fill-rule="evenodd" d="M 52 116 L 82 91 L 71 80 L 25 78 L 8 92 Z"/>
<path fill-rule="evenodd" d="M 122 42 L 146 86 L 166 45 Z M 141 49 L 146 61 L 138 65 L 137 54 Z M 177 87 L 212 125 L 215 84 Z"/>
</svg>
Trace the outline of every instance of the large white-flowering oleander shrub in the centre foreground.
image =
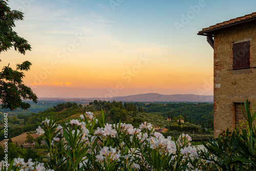
<svg viewBox="0 0 256 171">
<path fill-rule="evenodd" d="M 56 125 L 52 118 L 45 119 L 37 132 L 44 134 L 50 155 L 46 167 L 54 170 L 58 167 L 64 170 L 191 170 L 199 168 L 203 161 L 197 158 L 196 149 L 190 147 L 188 135 L 181 135 L 175 142 L 170 136 L 164 138 L 154 132 L 150 123 L 141 123 L 140 128 L 135 129 L 131 124 L 108 124 L 105 120 L 103 111 L 97 119 L 87 113 L 79 120 L 69 120 L 63 127 Z M 99 127 L 94 132 L 96 121 Z M 210 163 L 202 168 L 208 167 Z"/>
</svg>

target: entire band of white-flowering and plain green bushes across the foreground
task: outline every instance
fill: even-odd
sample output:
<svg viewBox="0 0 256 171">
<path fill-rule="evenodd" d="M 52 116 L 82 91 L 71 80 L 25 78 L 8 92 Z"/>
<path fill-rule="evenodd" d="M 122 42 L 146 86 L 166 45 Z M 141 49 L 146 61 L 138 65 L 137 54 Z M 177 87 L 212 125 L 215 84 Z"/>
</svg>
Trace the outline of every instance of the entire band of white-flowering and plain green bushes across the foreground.
<svg viewBox="0 0 256 171">
<path fill-rule="evenodd" d="M 53 117 L 44 118 L 37 129 L 47 146 L 44 163 L 16 158 L 8 170 L 255 170 L 256 113 L 248 101 L 245 109 L 246 126 L 203 142 L 207 151 L 190 146 L 188 135 L 164 137 L 147 122 L 138 128 L 106 123 L 103 111 L 99 117 L 87 112 L 62 126 Z"/>
</svg>

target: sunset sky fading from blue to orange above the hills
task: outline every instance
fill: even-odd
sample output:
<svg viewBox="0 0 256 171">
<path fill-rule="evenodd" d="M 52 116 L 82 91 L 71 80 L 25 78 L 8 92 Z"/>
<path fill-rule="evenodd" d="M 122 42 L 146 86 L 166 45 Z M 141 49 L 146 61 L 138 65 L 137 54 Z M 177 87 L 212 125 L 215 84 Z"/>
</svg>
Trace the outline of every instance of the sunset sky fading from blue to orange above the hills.
<svg viewBox="0 0 256 171">
<path fill-rule="evenodd" d="M 29 60 L 37 97 L 144 93 L 213 95 L 213 49 L 202 28 L 255 12 L 237 0 L 11 0 L 14 31 L 32 51 L 2 52 L 1 66 Z"/>
</svg>

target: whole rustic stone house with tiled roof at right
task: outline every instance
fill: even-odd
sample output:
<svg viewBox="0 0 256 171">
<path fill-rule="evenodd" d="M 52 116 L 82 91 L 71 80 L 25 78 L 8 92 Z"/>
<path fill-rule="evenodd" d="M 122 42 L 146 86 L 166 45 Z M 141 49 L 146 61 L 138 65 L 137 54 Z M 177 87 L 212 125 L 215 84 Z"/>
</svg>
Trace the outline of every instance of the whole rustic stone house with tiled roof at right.
<svg viewBox="0 0 256 171">
<path fill-rule="evenodd" d="M 214 134 L 245 120 L 241 102 L 256 99 L 256 12 L 199 31 L 214 48 Z M 214 39 L 213 39 L 214 38 Z M 244 108 L 244 106 L 243 106 Z"/>
</svg>

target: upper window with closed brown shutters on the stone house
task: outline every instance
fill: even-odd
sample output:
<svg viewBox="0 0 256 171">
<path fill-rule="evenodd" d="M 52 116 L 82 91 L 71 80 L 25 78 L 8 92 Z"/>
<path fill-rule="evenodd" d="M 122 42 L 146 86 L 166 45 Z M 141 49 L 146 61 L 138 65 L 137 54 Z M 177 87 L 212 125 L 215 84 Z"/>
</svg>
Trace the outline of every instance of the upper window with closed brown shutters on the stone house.
<svg viewBox="0 0 256 171">
<path fill-rule="evenodd" d="M 250 41 L 233 44 L 233 70 L 250 68 Z"/>
</svg>

